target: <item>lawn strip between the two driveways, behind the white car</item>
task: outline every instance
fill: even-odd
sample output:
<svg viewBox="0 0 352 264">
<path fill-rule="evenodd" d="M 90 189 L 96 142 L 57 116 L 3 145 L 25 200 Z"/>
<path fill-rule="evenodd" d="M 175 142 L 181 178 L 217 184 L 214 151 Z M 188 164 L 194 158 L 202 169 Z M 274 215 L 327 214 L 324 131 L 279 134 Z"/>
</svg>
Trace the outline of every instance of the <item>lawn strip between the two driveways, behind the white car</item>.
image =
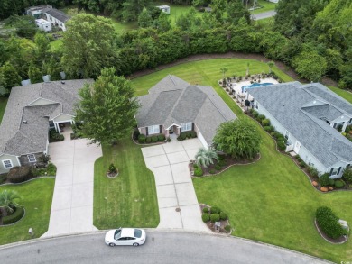
<svg viewBox="0 0 352 264">
<path fill-rule="evenodd" d="M 111 163 L 119 170 L 117 178 L 106 176 Z M 98 229 L 158 225 L 154 176 L 145 167 L 141 147 L 129 137 L 114 147 L 103 146 L 94 173 L 94 225 Z"/>
</svg>

